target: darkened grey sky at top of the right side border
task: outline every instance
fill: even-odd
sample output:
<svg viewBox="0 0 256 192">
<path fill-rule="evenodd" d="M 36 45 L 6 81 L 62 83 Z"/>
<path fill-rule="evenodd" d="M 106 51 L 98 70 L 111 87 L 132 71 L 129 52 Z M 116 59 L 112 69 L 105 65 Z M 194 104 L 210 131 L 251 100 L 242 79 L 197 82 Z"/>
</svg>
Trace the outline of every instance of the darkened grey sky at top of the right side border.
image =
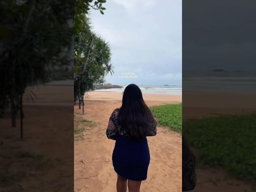
<svg viewBox="0 0 256 192">
<path fill-rule="evenodd" d="M 184 70 L 256 70 L 256 2 L 182 2 Z"/>
</svg>

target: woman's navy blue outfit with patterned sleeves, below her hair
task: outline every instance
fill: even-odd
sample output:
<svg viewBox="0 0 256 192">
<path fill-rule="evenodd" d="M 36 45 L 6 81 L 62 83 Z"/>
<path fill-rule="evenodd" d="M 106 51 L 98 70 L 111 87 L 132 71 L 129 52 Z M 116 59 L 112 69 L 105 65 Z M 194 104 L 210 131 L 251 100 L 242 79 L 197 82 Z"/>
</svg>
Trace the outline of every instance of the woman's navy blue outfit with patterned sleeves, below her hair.
<svg viewBox="0 0 256 192">
<path fill-rule="evenodd" d="M 150 152 L 147 138 L 141 141 L 132 140 L 118 125 L 118 112 L 115 109 L 110 116 L 106 135 L 109 139 L 116 140 L 112 154 L 115 172 L 129 180 L 146 180 L 150 163 Z M 156 123 L 149 128 L 147 136 L 156 135 Z"/>
</svg>

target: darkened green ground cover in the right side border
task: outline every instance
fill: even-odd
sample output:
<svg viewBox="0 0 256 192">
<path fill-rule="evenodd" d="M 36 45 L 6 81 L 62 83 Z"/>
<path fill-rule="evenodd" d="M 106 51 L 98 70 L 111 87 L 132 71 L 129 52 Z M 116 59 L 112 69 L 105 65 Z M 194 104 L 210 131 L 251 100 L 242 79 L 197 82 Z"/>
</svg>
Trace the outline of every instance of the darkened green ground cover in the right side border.
<svg viewBox="0 0 256 192">
<path fill-rule="evenodd" d="M 256 114 L 192 120 L 183 135 L 203 165 L 256 183 Z"/>
</svg>

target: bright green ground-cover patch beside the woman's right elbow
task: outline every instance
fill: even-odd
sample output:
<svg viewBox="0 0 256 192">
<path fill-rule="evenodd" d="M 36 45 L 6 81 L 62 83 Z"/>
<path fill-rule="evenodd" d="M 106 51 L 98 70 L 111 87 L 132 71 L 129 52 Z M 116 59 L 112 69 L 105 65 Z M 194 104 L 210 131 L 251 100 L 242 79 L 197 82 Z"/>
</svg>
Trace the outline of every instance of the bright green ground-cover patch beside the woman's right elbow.
<svg viewBox="0 0 256 192">
<path fill-rule="evenodd" d="M 158 125 L 182 132 L 182 103 L 152 106 L 150 110 L 157 118 Z"/>
</svg>

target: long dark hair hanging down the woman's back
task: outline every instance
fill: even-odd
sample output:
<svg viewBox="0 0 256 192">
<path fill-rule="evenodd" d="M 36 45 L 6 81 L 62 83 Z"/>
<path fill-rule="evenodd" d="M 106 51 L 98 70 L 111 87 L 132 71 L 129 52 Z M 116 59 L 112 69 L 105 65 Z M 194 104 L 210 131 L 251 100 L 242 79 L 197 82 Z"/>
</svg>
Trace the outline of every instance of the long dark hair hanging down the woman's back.
<svg viewBox="0 0 256 192">
<path fill-rule="evenodd" d="M 118 118 L 121 128 L 134 140 L 142 140 L 152 126 L 154 117 L 137 85 L 130 84 L 125 88 Z"/>
</svg>

